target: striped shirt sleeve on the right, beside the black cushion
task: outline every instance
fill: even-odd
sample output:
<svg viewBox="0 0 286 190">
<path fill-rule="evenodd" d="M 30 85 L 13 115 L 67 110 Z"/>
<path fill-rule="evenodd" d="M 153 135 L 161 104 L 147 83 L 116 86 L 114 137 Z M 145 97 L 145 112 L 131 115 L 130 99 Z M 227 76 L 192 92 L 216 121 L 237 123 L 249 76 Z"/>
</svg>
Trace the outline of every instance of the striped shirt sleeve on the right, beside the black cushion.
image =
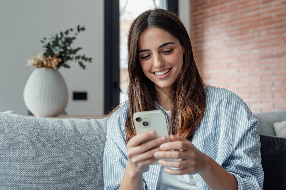
<svg viewBox="0 0 286 190">
<path fill-rule="evenodd" d="M 260 190 L 264 173 L 261 165 L 259 121 L 245 102 L 233 92 L 228 92 L 223 103 L 222 117 L 225 133 L 231 141 L 230 155 L 222 166 L 238 181 L 239 190 Z"/>
</svg>

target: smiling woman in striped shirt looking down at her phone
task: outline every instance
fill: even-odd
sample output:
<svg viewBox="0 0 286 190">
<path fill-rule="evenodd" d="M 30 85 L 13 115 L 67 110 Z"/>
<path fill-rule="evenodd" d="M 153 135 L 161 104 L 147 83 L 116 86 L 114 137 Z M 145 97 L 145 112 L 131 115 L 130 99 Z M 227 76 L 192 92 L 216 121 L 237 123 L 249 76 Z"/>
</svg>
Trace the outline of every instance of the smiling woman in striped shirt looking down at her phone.
<svg viewBox="0 0 286 190">
<path fill-rule="evenodd" d="M 259 121 L 236 94 L 204 85 L 175 14 L 154 9 L 133 21 L 128 72 L 129 103 L 108 120 L 105 189 L 262 189 Z M 133 114 L 156 109 L 171 142 L 136 134 Z"/>
</svg>

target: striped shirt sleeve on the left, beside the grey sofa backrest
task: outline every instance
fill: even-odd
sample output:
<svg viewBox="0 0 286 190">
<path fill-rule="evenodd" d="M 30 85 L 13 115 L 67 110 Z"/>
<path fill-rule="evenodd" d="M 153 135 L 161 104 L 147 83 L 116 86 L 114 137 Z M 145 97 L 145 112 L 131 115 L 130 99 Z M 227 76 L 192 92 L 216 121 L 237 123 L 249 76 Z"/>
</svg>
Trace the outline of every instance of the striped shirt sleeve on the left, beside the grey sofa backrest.
<svg viewBox="0 0 286 190">
<path fill-rule="evenodd" d="M 128 116 L 126 106 L 119 108 L 107 121 L 107 135 L 103 155 L 104 189 L 119 189 L 128 163 L 125 122 Z M 146 183 L 143 181 L 143 187 Z"/>
</svg>

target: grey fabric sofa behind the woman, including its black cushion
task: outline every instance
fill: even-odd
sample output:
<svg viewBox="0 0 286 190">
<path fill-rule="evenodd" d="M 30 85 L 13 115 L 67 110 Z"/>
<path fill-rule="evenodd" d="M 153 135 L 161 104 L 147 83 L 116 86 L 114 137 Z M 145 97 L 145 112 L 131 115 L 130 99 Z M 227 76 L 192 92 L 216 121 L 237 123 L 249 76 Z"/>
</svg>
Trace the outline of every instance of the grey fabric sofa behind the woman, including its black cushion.
<svg viewBox="0 0 286 190">
<path fill-rule="evenodd" d="M 260 121 L 263 189 L 286 189 L 286 139 L 273 123 L 286 111 L 255 114 Z M 0 112 L 0 189 L 104 189 L 106 120 L 32 118 Z"/>
</svg>

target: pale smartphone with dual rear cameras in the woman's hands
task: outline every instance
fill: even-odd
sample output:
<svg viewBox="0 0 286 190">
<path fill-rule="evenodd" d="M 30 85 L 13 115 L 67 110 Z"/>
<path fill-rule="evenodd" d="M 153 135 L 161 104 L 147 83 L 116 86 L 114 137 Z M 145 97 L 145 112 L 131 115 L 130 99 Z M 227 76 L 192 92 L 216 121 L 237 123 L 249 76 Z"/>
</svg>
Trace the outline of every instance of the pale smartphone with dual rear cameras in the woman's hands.
<svg viewBox="0 0 286 190">
<path fill-rule="evenodd" d="M 136 112 L 133 114 L 133 122 L 137 134 L 154 130 L 156 132 L 155 136 L 148 138 L 146 141 L 165 136 L 167 138 L 166 142 L 169 142 L 169 132 L 166 121 L 165 113 L 161 110 L 145 111 L 145 112 Z M 145 141 L 144 141 L 145 142 Z M 166 159 L 171 160 L 172 159 Z M 158 161 L 151 163 L 159 164 Z"/>
</svg>

